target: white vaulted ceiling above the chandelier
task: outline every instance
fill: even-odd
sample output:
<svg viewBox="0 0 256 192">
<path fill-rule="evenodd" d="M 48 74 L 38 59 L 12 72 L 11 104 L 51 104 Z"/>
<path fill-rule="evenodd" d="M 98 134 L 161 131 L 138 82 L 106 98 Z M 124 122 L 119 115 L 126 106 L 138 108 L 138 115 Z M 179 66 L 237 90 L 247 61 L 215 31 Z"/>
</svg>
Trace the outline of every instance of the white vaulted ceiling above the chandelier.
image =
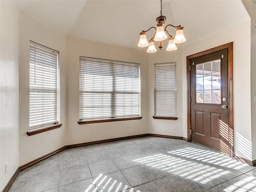
<svg viewBox="0 0 256 192">
<path fill-rule="evenodd" d="M 16 0 L 15 6 L 59 32 L 86 40 L 136 47 L 155 26 L 160 0 Z M 240 0 L 163 0 L 166 25 L 181 25 L 194 42 L 250 18 Z M 175 29 L 168 27 L 171 35 Z M 154 30 L 148 32 L 152 38 Z"/>
</svg>

